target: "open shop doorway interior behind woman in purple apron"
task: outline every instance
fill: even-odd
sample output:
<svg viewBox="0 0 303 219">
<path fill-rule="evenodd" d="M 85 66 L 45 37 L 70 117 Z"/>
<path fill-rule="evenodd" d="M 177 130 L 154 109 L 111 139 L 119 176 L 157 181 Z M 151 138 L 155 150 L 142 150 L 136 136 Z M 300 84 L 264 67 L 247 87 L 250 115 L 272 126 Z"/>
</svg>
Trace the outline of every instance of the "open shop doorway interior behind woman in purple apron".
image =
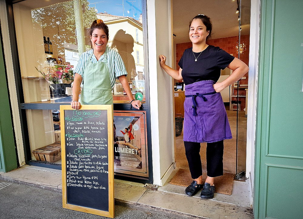
<svg viewBox="0 0 303 219">
<path fill-rule="evenodd" d="M 183 51 L 192 46 L 188 36 L 188 25 L 191 18 L 198 14 L 205 14 L 211 18 L 213 29 L 212 37 L 207 44 L 222 48 L 245 64 L 249 62 L 249 36 L 250 36 L 250 0 L 242 1 L 191 1 L 191 11 L 184 13 L 183 2 L 174 0 L 173 4 L 173 42 L 174 42 L 174 67 L 178 70 L 178 61 Z M 232 73 L 226 68 L 221 71 L 219 80 L 224 80 Z M 179 81 L 175 80 L 176 83 Z M 175 86 L 176 87 L 176 86 Z M 246 171 L 246 137 L 247 137 L 247 93 L 248 73 L 238 82 L 232 84 L 221 92 L 225 103 L 233 139 L 224 141 L 223 170 L 234 174 L 236 180 L 245 181 Z M 175 116 L 182 117 L 184 91 L 175 89 Z M 180 103 L 181 102 L 181 103 Z M 177 121 L 177 120 L 176 120 Z M 176 124 L 176 131 L 178 127 Z M 178 135 L 178 133 L 176 134 Z M 202 168 L 206 169 L 206 143 L 201 144 Z M 250 156 L 250 155 L 249 155 Z M 176 136 L 175 141 L 176 168 L 188 169 L 185 156 L 182 132 Z M 245 189 L 245 188 L 244 188 Z M 248 186 L 247 191 L 248 192 Z M 249 192 L 248 192 L 249 193 Z"/>
</svg>

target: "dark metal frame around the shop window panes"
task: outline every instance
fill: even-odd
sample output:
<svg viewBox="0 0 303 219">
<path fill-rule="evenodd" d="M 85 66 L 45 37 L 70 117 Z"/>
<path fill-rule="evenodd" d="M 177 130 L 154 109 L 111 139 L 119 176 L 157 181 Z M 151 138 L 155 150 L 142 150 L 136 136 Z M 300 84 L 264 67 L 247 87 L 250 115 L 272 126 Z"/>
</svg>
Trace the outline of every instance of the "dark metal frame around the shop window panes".
<svg viewBox="0 0 303 219">
<path fill-rule="evenodd" d="M 26 0 L 13 0 L 8 1 L 5 0 L 8 6 L 8 28 L 10 34 L 10 44 L 11 44 L 11 51 L 12 51 L 12 59 L 13 59 L 13 67 L 14 67 L 14 76 L 15 76 L 15 83 L 17 89 L 17 98 L 18 98 L 18 107 L 20 109 L 20 122 L 21 122 L 21 130 L 22 130 L 22 138 L 23 138 L 23 147 L 25 152 L 25 163 L 29 165 L 35 166 L 42 166 L 46 168 L 53 168 L 53 169 L 61 169 L 60 164 L 53 164 L 47 162 L 39 162 L 39 161 L 32 161 L 31 160 L 31 150 L 30 150 L 30 142 L 28 139 L 28 127 L 27 127 L 27 118 L 26 118 L 26 110 L 27 109 L 39 109 L 39 110 L 52 110 L 52 109 L 59 109 L 60 103 L 25 103 L 24 96 L 23 96 L 23 87 L 22 87 L 22 80 L 21 80 L 21 70 L 19 64 L 19 57 L 18 57 L 18 48 L 17 48 L 17 39 L 15 33 L 15 21 L 13 15 L 13 4 L 22 2 Z M 140 183 L 153 183 L 153 171 L 152 171 L 152 150 L 151 150 L 151 117 L 150 117 L 150 100 L 149 100 L 149 77 L 148 77 L 148 32 L 147 32 L 147 10 L 146 10 L 146 0 L 142 0 L 142 25 L 143 25 L 143 44 L 145 45 L 143 48 L 144 51 L 144 68 L 145 68 L 145 103 L 142 104 L 143 109 L 146 111 L 146 122 L 147 122 L 147 150 L 148 150 L 148 178 L 143 177 L 135 177 L 130 175 L 122 175 L 117 174 L 115 178 L 124 179 L 128 181 L 135 181 Z M 69 103 L 64 103 L 64 105 Z M 130 109 L 129 104 L 114 104 L 114 110 L 133 110 Z"/>
</svg>

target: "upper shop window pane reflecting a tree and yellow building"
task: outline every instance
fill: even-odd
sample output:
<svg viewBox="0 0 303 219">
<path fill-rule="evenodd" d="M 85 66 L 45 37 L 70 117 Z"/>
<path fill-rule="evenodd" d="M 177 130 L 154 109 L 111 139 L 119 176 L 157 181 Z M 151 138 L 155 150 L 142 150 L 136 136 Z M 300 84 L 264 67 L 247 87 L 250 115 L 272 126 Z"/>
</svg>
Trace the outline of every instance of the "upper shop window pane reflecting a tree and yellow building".
<svg viewBox="0 0 303 219">
<path fill-rule="evenodd" d="M 111 4 L 104 3 L 106 7 L 111 8 L 112 5 L 118 4 L 118 1 L 112 1 Z M 83 26 L 85 29 L 85 50 L 91 49 L 88 29 L 95 19 L 102 19 L 109 27 L 108 46 L 118 51 L 124 61 L 126 71 L 128 72 L 127 80 L 133 95 L 141 93 L 145 101 L 145 70 L 144 70 L 144 51 L 143 51 L 143 27 L 142 27 L 142 9 L 132 5 L 130 11 L 134 17 L 126 17 L 120 15 L 112 15 L 107 12 L 96 13 L 96 6 L 92 6 L 88 1 L 82 1 L 83 11 Z M 32 27 L 30 32 L 33 36 L 27 34 L 27 44 L 20 43 L 18 47 L 21 54 L 27 53 L 28 48 L 33 48 L 31 62 L 27 66 L 22 67 L 21 74 L 23 78 L 23 91 L 26 97 L 26 103 L 52 101 L 55 97 L 53 93 L 61 93 L 62 96 L 70 96 L 68 87 L 72 87 L 72 80 L 64 80 L 63 76 L 58 73 L 58 68 L 63 70 L 68 65 L 75 66 L 79 60 L 76 21 L 74 14 L 73 1 L 60 2 L 53 5 L 46 5 L 45 2 L 36 0 L 27 0 L 14 4 L 16 12 L 16 20 L 22 20 L 23 23 L 29 25 L 21 25 L 16 23 L 17 41 L 24 40 L 25 33 L 28 33 L 28 27 Z M 102 5 L 102 2 L 98 3 Z M 32 5 L 37 8 L 31 8 Z M 140 4 L 139 4 L 140 5 Z M 24 6 L 27 6 L 24 8 Z M 43 7 L 38 7 L 43 6 Z M 134 11 L 137 13 L 135 14 Z M 20 13 L 21 12 L 21 13 Z M 116 11 L 115 11 L 116 12 Z M 26 15 L 26 22 L 24 16 Z M 31 20 L 29 20 L 29 16 Z M 23 38 L 23 39 L 22 39 Z M 25 45 L 25 46 L 24 46 Z M 21 58 L 22 59 L 22 58 Z M 24 61 L 25 62 L 25 61 Z M 21 61 L 22 63 L 22 61 Z M 21 64 L 22 65 L 22 64 Z M 35 71 L 35 67 L 41 71 Z M 54 71 L 55 69 L 55 71 Z M 47 77 L 45 77 L 45 75 Z M 55 77 L 51 80 L 49 77 Z M 40 96 L 41 92 L 33 90 L 31 86 L 27 86 L 28 78 L 44 78 L 47 83 L 38 90 L 50 90 L 49 96 L 45 98 Z M 52 84 L 68 84 L 64 86 L 54 86 Z M 49 87 L 50 89 L 48 89 Z M 60 87 L 60 92 L 54 92 L 54 87 Z M 64 90 L 62 90 L 62 87 Z M 29 95 L 28 95 L 29 94 Z M 124 95 L 123 95 L 124 94 Z M 114 101 L 127 100 L 121 83 L 117 80 L 113 90 Z M 120 102 L 121 103 L 121 102 Z M 125 101 L 123 101 L 125 103 Z"/>
</svg>

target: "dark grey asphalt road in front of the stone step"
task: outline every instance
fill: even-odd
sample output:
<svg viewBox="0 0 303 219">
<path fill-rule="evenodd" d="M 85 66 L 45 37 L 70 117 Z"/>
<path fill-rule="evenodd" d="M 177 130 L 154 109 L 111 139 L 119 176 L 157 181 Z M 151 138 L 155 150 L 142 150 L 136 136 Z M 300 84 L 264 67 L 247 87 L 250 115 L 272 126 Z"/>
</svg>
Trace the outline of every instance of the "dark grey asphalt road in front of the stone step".
<svg viewBox="0 0 303 219">
<path fill-rule="evenodd" d="M 2 219 L 103 219 L 94 214 L 62 208 L 62 192 L 0 180 Z M 177 214 L 115 203 L 117 219 L 188 219 Z"/>
</svg>

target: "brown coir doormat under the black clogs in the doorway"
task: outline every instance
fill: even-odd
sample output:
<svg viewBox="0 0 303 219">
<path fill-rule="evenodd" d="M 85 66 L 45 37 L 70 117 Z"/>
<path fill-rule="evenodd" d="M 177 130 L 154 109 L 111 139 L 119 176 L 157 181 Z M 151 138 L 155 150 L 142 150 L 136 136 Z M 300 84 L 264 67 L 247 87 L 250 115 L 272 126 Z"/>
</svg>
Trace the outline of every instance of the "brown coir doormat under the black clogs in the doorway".
<svg viewBox="0 0 303 219">
<path fill-rule="evenodd" d="M 206 179 L 206 171 L 203 171 L 203 182 Z M 215 184 L 215 192 L 221 193 L 225 195 L 231 195 L 232 185 L 234 181 L 235 174 L 232 173 L 223 173 L 223 176 L 215 177 L 214 184 Z M 169 182 L 173 185 L 179 185 L 188 187 L 192 182 L 192 178 L 190 175 L 189 170 L 179 169 L 175 176 Z"/>
</svg>

